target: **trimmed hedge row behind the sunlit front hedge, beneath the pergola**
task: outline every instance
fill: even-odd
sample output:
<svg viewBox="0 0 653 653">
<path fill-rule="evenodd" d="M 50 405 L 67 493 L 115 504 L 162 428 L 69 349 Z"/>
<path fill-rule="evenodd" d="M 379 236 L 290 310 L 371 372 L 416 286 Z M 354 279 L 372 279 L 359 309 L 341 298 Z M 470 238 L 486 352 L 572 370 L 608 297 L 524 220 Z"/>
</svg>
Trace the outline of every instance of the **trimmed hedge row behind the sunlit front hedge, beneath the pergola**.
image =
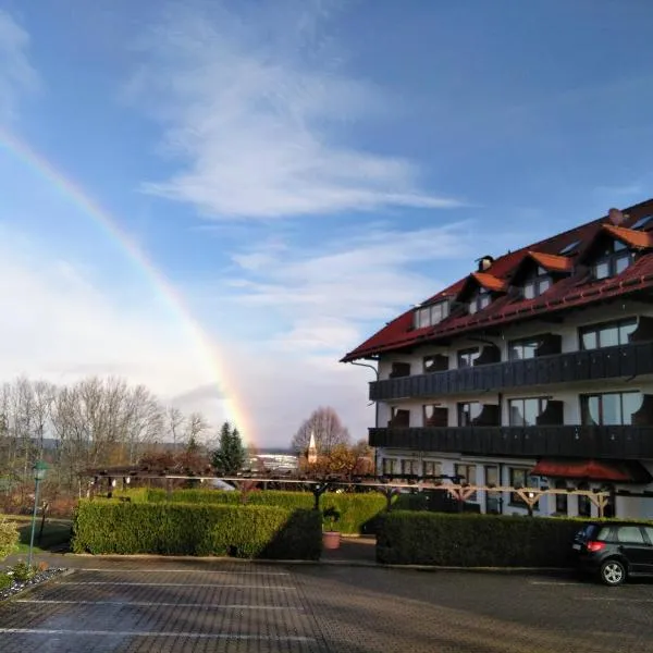
<svg viewBox="0 0 653 653">
<path fill-rule="evenodd" d="M 158 488 L 138 488 L 121 493 L 133 503 L 185 503 L 199 505 L 242 505 L 241 492 L 221 490 L 174 490 L 170 494 Z M 248 506 L 275 506 L 287 510 L 311 509 L 315 500 L 310 492 L 287 492 L 280 490 L 254 491 L 247 494 Z M 378 493 L 328 492 L 320 498 L 324 510 L 334 507 L 340 513 L 335 525 L 343 533 L 374 532 L 377 517 L 385 509 L 385 498 Z"/>
</svg>

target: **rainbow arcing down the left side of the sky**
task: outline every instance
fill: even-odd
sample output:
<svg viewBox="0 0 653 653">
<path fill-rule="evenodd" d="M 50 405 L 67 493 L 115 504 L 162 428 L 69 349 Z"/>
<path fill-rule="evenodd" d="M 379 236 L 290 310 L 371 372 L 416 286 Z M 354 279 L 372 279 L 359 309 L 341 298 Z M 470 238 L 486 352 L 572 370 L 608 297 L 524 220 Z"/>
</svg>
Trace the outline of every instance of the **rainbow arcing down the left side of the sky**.
<svg viewBox="0 0 653 653">
<path fill-rule="evenodd" d="M 254 444 L 254 431 L 247 418 L 247 411 L 238 401 L 233 386 L 230 387 L 230 383 L 227 383 L 226 366 L 219 355 L 218 347 L 209 341 L 178 292 L 165 276 L 120 229 L 115 219 L 106 209 L 69 176 L 57 170 L 45 157 L 2 127 L 0 127 L 0 151 L 13 156 L 37 176 L 53 186 L 67 201 L 81 209 L 144 272 L 148 282 L 160 293 L 165 304 L 180 319 L 184 330 L 197 347 L 199 359 L 206 361 L 217 389 L 226 395 L 224 403 L 227 419 L 238 427 L 247 443 Z"/>
</svg>

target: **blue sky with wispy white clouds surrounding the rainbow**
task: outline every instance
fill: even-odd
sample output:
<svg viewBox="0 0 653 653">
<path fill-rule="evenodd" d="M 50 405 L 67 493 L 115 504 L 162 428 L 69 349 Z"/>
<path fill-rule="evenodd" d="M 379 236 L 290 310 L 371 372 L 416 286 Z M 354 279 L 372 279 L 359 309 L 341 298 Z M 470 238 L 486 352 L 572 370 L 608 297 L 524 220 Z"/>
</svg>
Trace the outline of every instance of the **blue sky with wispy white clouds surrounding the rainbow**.
<svg viewBox="0 0 653 653">
<path fill-rule="evenodd" d="M 5 373 L 121 373 L 285 444 L 337 359 L 494 256 L 651 196 L 646 0 L 0 0 L 0 126 L 177 289 L 0 149 Z M 25 301 L 29 297 L 29 301 Z"/>
</svg>

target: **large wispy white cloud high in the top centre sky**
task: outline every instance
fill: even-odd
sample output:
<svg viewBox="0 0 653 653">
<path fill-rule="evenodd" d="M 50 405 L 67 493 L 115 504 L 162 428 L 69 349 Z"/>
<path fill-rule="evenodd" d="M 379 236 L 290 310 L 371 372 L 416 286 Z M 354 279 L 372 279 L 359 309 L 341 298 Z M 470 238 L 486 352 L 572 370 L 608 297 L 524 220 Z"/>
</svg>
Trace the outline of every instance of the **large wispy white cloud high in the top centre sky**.
<svg viewBox="0 0 653 653">
<path fill-rule="evenodd" d="M 458 206 L 424 192 L 409 161 L 342 141 L 338 124 L 392 100 L 342 72 L 324 3 L 275 8 L 251 21 L 174 11 L 140 41 L 127 96 L 162 121 L 164 152 L 183 162 L 146 190 L 212 218 Z"/>
</svg>

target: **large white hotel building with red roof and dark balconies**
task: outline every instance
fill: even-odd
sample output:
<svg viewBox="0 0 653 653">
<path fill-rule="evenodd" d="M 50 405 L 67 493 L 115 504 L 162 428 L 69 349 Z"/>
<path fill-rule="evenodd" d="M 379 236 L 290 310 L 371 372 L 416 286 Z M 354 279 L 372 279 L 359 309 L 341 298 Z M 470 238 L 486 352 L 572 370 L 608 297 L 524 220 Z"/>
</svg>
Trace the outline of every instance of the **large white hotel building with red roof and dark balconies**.
<svg viewBox="0 0 653 653">
<path fill-rule="evenodd" d="M 343 358 L 378 365 L 379 473 L 606 490 L 617 517 L 653 517 L 653 199 L 478 262 Z M 596 507 L 560 493 L 535 514 Z"/>
</svg>

